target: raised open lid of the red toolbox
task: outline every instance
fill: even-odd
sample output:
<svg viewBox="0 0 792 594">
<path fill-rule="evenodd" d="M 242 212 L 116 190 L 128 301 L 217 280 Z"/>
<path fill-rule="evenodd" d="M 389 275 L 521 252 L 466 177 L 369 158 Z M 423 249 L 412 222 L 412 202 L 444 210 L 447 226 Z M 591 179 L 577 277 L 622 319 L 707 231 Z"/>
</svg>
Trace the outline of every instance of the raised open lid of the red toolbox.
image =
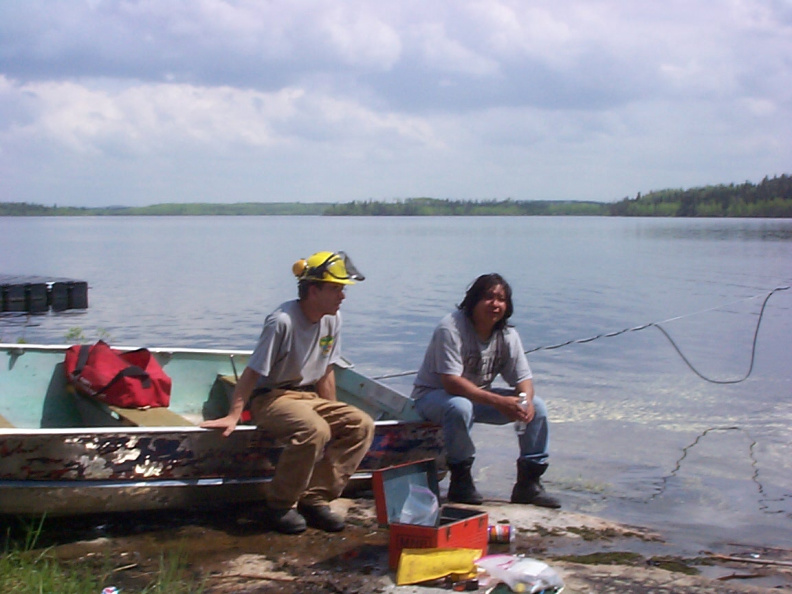
<svg viewBox="0 0 792 594">
<path fill-rule="evenodd" d="M 372 474 L 371 482 L 377 507 L 377 522 L 381 526 L 399 522 L 404 503 L 410 494 L 410 485 L 431 489 L 438 502 L 440 501 L 437 465 L 432 459 L 376 470 Z"/>
</svg>

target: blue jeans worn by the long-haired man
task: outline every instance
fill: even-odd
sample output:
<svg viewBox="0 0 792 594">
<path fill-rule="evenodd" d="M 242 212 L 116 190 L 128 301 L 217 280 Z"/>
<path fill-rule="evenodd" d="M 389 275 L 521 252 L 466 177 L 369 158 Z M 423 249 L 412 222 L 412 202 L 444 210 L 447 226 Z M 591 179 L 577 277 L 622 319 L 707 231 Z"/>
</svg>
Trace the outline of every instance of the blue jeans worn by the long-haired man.
<svg viewBox="0 0 792 594">
<path fill-rule="evenodd" d="M 513 395 L 511 390 L 495 388 L 492 390 L 504 396 Z M 528 423 L 525 433 L 515 435 L 520 444 L 520 458 L 546 464 L 550 451 L 550 431 L 547 421 L 547 407 L 544 401 L 534 396 L 533 420 Z M 476 446 L 470 437 L 473 423 L 506 425 L 511 423 L 492 406 L 473 404 L 464 396 L 452 396 L 445 390 L 433 390 L 415 401 L 415 409 L 428 421 L 443 428 L 446 447 L 446 461 L 458 464 L 476 454 Z"/>
</svg>

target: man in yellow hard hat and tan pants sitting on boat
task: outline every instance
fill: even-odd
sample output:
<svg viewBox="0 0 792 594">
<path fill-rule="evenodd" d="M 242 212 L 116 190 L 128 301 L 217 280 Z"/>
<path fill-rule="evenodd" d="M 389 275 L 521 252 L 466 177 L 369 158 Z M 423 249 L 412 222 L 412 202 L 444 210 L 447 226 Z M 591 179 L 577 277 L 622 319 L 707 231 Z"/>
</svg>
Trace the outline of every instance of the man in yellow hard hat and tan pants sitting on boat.
<svg viewBox="0 0 792 594">
<path fill-rule="evenodd" d="M 250 517 L 284 534 L 306 526 L 337 532 L 344 519 L 329 503 L 341 495 L 374 436 L 366 413 L 336 399 L 333 373 L 341 357 L 344 288 L 364 277 L 344 252 L 317 252 L 292 271 L 298 299 L 267 316 L 230 412 L 202 426 L 228 436 L 247 406 L 256 425 L 285 445 L 266 501 Z"/>
</svg>

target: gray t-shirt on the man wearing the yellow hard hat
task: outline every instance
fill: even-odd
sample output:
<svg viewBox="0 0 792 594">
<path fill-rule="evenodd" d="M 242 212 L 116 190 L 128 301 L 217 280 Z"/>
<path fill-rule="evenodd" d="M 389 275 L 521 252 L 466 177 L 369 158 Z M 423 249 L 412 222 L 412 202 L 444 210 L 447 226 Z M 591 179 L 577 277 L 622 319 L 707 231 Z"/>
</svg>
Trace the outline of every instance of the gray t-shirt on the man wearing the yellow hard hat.
<svg viewBox="0 0 792 594">
<path fill-rule="evenodd" d="M 248 367 L 261 374 L 257 388 L 315 384 L 341 358 L 341 314 L 313 323 L 297 300 L 283 303 L 264 320 Z"/>
</svg>

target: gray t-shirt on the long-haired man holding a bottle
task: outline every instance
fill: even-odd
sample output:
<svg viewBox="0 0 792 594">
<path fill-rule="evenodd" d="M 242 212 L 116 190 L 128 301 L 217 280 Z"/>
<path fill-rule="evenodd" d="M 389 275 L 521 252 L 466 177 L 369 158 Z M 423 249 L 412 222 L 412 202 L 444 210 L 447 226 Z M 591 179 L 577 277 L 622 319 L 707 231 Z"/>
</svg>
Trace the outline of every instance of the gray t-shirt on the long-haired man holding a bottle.
<svg viewBox="0 0 792 594">
<path fill-rule="evenodd" d="M 484 342 L 465 312 L 456 310 L 435 328 L 415 378 L 412 398 L 417 400 L 442 388 L 443 375 L 462 376 L 479 388 L 489 389 L 499 374 L 510 386 L 532 377 L 520 335 L 506 327 Z"/>
</svg>

